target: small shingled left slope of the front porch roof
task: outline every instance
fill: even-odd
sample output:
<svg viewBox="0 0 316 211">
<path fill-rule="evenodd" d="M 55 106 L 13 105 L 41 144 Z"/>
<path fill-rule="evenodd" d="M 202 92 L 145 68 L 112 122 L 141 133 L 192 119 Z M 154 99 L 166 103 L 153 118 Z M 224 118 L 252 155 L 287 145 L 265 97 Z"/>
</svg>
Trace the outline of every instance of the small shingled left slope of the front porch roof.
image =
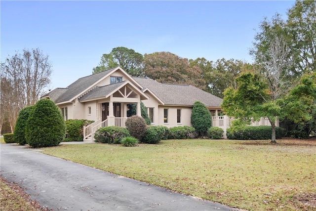
<svg viewBox="0 0 316 211">
<path fill-rule="evenodd" d="M 114 91 L 123 83 L 125 83 L 125 81 L 119 82 L 116 84 L 105 85 L 105 86 L 97 86 L 91 91 L 89 91 L 87 94 L 85 94 L 84 96 L 80 97 L 79 101 L 92 100 L 92 99 L 96 99 L 100 97 L 105 97 L 107 94 Z"/>
</svg>

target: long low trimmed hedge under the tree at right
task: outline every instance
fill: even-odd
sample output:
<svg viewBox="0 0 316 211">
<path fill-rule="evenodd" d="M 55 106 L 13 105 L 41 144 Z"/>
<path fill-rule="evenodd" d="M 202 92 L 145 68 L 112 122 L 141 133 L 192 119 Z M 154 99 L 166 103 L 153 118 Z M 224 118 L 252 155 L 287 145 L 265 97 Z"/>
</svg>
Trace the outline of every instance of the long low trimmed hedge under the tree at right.
<svg viewBox="0 0 316 211">
<path fill-rule="evenodd" d="M 284 128 L 276 127 L 276 139 L 283 137 L 284 132 Z M 246 126 L 234 131 L 232 128 L 228 128 L 226 136 L 228 139 L 236 140 L 266 140 L 271 139 L 272 129 L 271 126 Z"/>
</svg>

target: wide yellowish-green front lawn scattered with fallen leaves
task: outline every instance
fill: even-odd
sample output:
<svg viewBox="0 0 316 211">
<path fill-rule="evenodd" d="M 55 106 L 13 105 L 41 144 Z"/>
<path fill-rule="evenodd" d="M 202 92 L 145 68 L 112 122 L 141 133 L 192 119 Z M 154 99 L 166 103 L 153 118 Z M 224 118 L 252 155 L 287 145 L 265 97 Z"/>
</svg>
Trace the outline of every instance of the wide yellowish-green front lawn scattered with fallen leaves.
<svg viewBox="0 0 316 211">
<path fill-rule="evenodd" d="M 42 149 L 45 154 L 240 209 L 304 209 L 298 199 L 316 193 L 315 141 L 269 142 L 193 139 L 138 147 L 98 143 Z"/>
</svg>

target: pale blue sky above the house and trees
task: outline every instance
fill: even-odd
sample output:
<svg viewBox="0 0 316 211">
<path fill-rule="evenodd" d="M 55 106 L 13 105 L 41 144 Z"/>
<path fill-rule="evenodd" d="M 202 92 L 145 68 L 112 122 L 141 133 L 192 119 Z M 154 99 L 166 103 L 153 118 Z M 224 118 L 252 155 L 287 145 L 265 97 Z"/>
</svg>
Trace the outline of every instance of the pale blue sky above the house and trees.
<svg viewBox="0 0 316 211">
<path fill-rule="evenodd" d="M 249 48 L 264 17 L 286 19 L 295 1 L 0 1 L 1 62 L 39 47 L 53 66 L 49 88 L 90 75 L 103 53 L 252 62 Z"/>
</svg>

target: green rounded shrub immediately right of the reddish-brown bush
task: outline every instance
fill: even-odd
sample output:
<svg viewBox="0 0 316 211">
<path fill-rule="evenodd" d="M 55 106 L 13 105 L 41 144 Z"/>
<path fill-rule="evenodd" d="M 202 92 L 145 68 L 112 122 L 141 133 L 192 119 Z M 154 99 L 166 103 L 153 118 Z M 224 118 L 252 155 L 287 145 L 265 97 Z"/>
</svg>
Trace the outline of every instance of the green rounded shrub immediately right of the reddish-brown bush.
<svg viewBox="0 0 316 211">
<path fill-rule="evenodd" d="M 148 126 L 142 142 L 158 144 L 161 140 L 168 139 L 169 131 L 169 128 L 165 126 Z"/>
</svg>

